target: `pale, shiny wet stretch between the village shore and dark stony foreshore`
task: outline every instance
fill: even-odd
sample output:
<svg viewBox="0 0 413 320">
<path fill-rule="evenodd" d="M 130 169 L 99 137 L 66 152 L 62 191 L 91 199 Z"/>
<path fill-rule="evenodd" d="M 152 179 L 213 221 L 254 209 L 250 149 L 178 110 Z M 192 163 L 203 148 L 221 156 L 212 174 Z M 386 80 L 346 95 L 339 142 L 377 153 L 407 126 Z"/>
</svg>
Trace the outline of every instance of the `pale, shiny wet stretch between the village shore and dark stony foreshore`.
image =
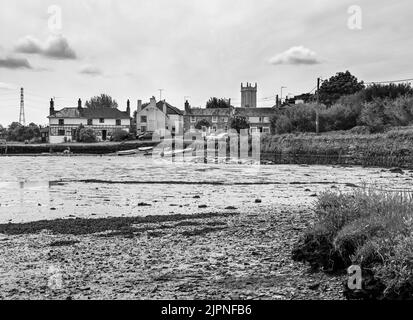
<svg viewBox="0 0 413 320">
<path fill-rule="evenodd" d="M 350 184 L 409 189 L 412 176 L 380 168 L 171 163 L 136 156 L 0 157 L 0 223 L 308 206 L 315 194 L 349 190 Z"/>
</svg>

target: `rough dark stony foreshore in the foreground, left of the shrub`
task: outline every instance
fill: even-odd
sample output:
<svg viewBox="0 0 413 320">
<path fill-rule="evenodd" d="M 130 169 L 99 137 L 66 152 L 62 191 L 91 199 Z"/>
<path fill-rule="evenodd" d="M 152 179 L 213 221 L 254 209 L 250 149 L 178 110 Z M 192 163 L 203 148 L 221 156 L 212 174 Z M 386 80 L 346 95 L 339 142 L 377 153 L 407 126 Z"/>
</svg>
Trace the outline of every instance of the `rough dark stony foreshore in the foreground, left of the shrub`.
<svg viewBox="0 0 413 320">
<path fill-rule="evenodd" d="M 343 276 L 291 260 L 312 219 L 307 207 L 261 204 L 2 225 L 0 299 L 343 299 Z"/>
</svg>

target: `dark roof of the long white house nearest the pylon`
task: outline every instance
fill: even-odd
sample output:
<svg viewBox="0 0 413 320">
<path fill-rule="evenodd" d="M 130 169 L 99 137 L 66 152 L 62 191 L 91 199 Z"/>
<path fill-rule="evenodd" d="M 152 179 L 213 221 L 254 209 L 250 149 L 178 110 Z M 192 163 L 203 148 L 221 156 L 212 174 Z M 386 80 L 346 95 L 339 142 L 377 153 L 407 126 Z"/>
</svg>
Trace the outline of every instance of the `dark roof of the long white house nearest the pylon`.
<svg viewBox="0 0 413 320">
<path fill-rule="evenodd" d="M 56 111 L 49 118 L 130 119 L 130 115 L 117 108 L 110 107 L 63 108 Z"/>
</svg>

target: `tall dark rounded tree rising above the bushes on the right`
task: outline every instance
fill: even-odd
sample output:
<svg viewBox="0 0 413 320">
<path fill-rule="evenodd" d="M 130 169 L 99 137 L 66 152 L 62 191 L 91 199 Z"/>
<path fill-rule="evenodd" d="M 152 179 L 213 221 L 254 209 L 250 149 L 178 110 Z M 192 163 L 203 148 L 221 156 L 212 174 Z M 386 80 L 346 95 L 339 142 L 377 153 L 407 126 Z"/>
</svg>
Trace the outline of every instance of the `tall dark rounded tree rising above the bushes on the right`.
<svg viewBox="0 0 413 320">
<path fill-rule="evenodd" d="M 341 96 L 354 94 L 364 89 L 363 81 L 358 82 L 357 78 L 349 71 L 338 72 L 335 76 L 323 82 L 320 87 L 320 102 L 326 106 L 331 106 Z"/>
</svg>

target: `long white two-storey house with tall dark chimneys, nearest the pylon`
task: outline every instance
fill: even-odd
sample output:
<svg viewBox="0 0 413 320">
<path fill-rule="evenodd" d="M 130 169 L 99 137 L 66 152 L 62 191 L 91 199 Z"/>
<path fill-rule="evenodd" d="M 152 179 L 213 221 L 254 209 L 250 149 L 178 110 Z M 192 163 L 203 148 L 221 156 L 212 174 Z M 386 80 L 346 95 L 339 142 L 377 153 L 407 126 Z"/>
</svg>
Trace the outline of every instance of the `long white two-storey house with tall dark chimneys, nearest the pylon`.
<svg viewBox="0 0 413 320">
<path fill-rule="evenodd" d="M 77 108 L 54 109 L 54 100 L 50 100 L 49 142 L 63 143 L 76 141 L 76 129 L 83 125 L 95 131 L 99 141 L 109 140 L 116 130 L 130 132 L 131 116 L 128 100 L 126 111 L 111 107 L 82 107 L 79 99 Z"/>
</svg>

